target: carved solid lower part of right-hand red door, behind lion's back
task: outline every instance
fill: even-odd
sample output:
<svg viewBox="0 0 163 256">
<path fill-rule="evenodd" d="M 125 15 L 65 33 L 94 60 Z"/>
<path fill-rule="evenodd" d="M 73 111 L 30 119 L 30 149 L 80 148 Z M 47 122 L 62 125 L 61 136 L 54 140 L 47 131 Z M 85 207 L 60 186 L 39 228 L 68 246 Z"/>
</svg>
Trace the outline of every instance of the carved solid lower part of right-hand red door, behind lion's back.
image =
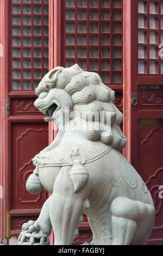
<svg viewBox="0 0 163 256">
<path fill-rule="evenodd" d="M 139 86 L 137 95 L 137 170 L 152 194 L 156 211 L 148 244 L 163 245 L 163 86 Z"/>
</svg>

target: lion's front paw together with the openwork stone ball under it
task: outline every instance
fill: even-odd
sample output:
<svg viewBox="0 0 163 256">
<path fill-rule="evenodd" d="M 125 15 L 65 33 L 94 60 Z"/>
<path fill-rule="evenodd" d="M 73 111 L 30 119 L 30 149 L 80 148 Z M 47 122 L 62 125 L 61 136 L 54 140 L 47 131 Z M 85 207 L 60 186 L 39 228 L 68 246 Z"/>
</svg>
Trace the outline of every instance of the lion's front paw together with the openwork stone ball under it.
<svg viewBox="0 0 163 256">
<path fill-rule="evenodd" d="M 49 233 L 47 225 L 29 221 L 22 225 L 18 245 L 49 245 Z"/>
</svg>

